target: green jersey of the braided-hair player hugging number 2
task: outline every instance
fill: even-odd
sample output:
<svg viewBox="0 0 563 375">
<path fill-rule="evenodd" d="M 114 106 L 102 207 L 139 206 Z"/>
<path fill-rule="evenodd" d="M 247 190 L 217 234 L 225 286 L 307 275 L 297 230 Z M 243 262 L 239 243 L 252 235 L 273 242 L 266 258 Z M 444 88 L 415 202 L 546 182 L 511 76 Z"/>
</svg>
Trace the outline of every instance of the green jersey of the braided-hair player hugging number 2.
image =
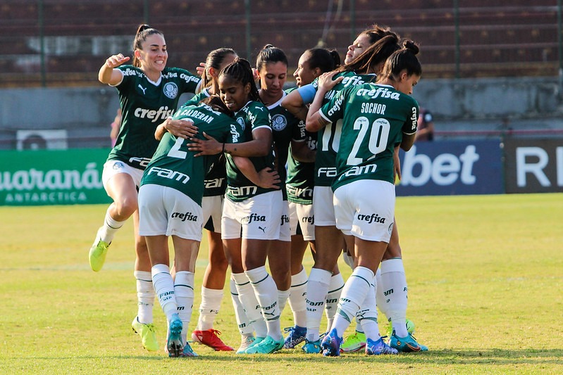
<svg viewBox="0 0 563 375">
<path fill-rule="evenodd" d="M 258 101 L 249 101 L 246 103 L 246 105 L 235 114 L 235 118 L 242 126 L 243 134 L 238 139 L 238 142 L 233 143 L 252 141 L 252 132 L 255 129 L 267 127 L 271 130 L 268 108 Z M 271 167 L 273 169 L 273 149 L 271 149 L 267 156 L 249 158 L 249 160 L 252 162 L 257 172 L 260 172 L 265 167 Z M 233 202 L 242 202 L 245 201 L 245 199 L 268 193 L 269 191 L 276 191 L 276 189 L 263 189 L 254 185 L 237 168 L 233 161 L 233 156 L 227 154 L 227 191 L 225 196 Z"/>
</svg>

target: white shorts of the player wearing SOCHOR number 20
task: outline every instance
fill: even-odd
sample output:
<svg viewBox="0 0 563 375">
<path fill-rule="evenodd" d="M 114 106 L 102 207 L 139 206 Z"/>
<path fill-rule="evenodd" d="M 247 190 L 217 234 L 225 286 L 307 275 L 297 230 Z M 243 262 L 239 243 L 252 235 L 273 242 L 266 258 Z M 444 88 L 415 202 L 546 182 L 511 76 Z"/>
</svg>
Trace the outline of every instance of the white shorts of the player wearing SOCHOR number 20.
<svg viewBox="0 0 563 375">
<path fill-rule="evenodd" d="M 389 243 L 395 217 L 395 185 L 361 179 L 334 192 L 336 227 L 366 241 Z"/>
</svg>

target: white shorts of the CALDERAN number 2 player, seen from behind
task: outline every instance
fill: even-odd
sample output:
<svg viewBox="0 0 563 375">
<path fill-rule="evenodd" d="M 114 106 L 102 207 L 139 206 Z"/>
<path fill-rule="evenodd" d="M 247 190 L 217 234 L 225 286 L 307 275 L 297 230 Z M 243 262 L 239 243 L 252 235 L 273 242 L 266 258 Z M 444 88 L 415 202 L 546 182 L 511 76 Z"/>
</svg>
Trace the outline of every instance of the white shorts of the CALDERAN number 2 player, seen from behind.
<svg viewBox="0 0 563 375">
<path fill-rule="evenodd" d="M 139 234 L 178 236 L 202 241 L 202 208 L 168 186 L 147 184 L 139 189 Z"/>
</svg>

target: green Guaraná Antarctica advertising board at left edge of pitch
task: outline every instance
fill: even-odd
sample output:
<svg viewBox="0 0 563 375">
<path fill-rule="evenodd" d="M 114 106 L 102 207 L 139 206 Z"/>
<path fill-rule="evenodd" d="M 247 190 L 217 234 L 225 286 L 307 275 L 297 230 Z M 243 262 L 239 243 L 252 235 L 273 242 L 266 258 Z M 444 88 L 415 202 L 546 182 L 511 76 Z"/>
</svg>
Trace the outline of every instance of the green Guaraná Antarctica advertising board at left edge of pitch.
<svg viewBox="0 0 563 375">
<path fill-rule="evenodd" d="M 101 184 L 106 149 L 0 151 L 0 205 L 111 203 Z"/>
</svg>

